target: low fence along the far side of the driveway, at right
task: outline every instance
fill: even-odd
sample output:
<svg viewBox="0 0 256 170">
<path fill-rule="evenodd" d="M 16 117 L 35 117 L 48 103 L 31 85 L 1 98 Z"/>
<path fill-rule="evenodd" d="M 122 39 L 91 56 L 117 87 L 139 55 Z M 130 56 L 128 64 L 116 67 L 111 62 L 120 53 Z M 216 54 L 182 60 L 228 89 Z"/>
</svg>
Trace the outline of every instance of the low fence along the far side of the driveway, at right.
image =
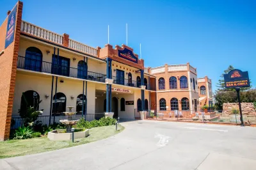
<svg viewBox="0 0 256 170">
<path fill-rule="evenodd" d="M 223 111 L 208 110 L 204 112 L 202 110 L 188 110 L 188 111 L 172 111 L 172 110 L 156 110 L 152 111 L 154 118 L 150 117 L 147 113 L 148 120 L 166 120 L 166 121 L 194 121 L 204 123 L 228 123 L 228 124 L 241 124 L 241 116 L 239 112 L 234 114 L 227 114 Z M 242 111 L 243 112 L 243 111 Z M 243 114 L 244 125 L 255 125 L 256 114 L 255 111 L 247 112 Z M 140 119 L 140 112 L 137 109 L 134 110 L 134 118 Z"/>
</svg>

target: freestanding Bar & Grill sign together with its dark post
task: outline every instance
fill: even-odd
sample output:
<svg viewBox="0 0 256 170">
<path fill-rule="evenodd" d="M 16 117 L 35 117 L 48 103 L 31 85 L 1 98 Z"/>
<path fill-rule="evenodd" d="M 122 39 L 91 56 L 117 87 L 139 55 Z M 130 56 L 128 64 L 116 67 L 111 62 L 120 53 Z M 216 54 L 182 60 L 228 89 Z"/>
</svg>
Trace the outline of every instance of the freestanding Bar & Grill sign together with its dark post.
<svg viewBox="0 0 256 170">
<path fill-rule="evenodd" d="M 240 99 L 240 89 L 250 87 L 250 79 L 248 76 L 248 72 L 242 72 L 241 70 L 234 69 L 224 74 L 225 88 L 227 89 L 236 89 L 238 104 L 239 104 L 239 112 L 240 112 L 240 120 L 241 127 L 244 126 L 242 107 L 241 107 L 241 99 Z"/>
</svg>

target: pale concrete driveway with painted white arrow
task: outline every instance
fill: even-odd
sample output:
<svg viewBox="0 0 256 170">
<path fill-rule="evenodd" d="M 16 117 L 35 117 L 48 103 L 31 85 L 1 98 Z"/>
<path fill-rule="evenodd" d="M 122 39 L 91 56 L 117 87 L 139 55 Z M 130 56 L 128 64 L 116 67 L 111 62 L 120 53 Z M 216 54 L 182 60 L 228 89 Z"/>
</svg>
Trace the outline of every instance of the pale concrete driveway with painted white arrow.
<svg viewBox="0 0 256 170">
<path fill-rule="evenodd" d="M 95 143 L 0 160 L 0 169 L 256 169 L 256 128 L 130 121 Z"/>
</svg>

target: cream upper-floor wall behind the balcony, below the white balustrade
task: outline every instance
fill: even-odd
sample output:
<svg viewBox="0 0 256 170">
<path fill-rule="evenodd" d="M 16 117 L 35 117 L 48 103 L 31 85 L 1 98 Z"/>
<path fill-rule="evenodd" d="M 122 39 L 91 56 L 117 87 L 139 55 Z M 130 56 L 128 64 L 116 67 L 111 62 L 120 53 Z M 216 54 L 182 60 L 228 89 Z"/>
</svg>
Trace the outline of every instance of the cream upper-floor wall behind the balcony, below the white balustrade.
<svg viewBox="0 0 256 170">
<path fill-rule="evenodd" d="M 19 44 L 19 56 L 25 57 L 26 55 L 26 49 L 28 47 L 36 47 L 41 50 L 43 54 L 43 61 L 52 63 L 52 54 L 54 53 L 54 48 L 42 45 L 38 42 L 31 42 L 30 40 L 26 40 L 24 38 L 20 38 L 20 44 Z M 50 51 L 49 54 L 47 54 L 47 50 Z M 55 50 L 55 54 L 57 55 L 57 48 Z M 79 56 L 77 54 L 66 52 L 65 50 L 60 50 L 59 55 L 61 57 L 69 58 L 70 59 L 70 67 L 77 68 L 77 64 L 79 61 L 83 61 L 83 56 Z M 73 58 L 76 58 L 76 61 L 73 61 Z M 86 58 L 85 58 L 86 61 Z M 88 71 L 90 72 L 96 72 L 96 73 L 102 73 L 106 74 L 106 63 L 101 63 L 99 61 L 96 61 L 94 59 L 88 58 Z"/>
</svg>

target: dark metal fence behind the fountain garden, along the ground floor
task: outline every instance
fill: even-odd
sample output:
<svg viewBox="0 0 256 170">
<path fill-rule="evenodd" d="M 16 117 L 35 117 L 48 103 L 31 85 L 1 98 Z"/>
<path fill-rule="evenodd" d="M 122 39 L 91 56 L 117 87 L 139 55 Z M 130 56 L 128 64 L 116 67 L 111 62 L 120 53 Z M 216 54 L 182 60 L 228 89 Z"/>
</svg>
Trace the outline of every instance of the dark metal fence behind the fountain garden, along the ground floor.
<svg viewBox="0 0 256 170">
<path fill-rule="evenodd" d="M 85 118 L 85 116 L 82 114 L 74 114 L 72 115 L 72 120 L 80 120 L 83 117 Z M 86 114 L 86 121 L 99 120 L 100 118 L 103 118 L 103 117 L 104 117 L 104 113 Z M 67 116 L 65 116 L 64 114 L 56 115 L 55 121 L 54 121 L 54 116 L 52 116 L 51 124 L 60 123 L 60 120 L 67 120 Z M 50 116 L 38 116 L 36 121 L 42 123 L 42 125 L 49 126 Z M 11 129 L 22 127 L 22 125 L 24 125 L 25 122 L 26 120 L 24 118 L 20 118 L 20 116 L 12 117 Z"/>
</svg>

